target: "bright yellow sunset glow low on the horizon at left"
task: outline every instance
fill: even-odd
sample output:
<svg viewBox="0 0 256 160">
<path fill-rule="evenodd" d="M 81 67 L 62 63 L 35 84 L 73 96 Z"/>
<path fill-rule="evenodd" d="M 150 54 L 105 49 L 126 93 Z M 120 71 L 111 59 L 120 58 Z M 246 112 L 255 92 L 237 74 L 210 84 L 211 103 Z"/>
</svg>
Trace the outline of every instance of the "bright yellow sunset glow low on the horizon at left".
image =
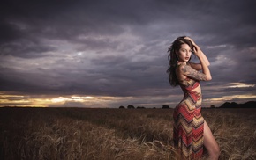
<svg viewBox="0 0 256 160">
<path fill-rule="evenodd" d="M 19 98 L 19 99 L 18 99 Z M 122 104 L 135 99 L 132 97 L 109 97 L 109 96 L 64 96 L 44 98 L 43 96 L 22 96 L 22 95 L 4 95 L 0 94 L 0 106 L 34 106 L 34 107 L 47 107 L 47 106 L 70 106 L 70 107 L 109 107 L 109 104 L 116 102 Z M 114 107 L 117 107 L 115 105 Z"/>
</svg>

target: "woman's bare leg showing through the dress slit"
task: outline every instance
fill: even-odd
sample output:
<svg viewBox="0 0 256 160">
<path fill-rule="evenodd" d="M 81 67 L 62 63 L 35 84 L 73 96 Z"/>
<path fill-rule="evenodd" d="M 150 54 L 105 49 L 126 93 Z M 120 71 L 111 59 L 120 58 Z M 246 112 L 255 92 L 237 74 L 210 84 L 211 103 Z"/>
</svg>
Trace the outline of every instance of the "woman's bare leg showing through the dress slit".
<svg viewBox="0 0 256 160">
<path fill-rule="evenodd" d="M 220 156 L 219 145 L 215 141 L 215 137 L 212 134 L 208 124 L 204 122 L 204 146 L 207 148 L 209 159 L 218 159 Z"/>
</svg>

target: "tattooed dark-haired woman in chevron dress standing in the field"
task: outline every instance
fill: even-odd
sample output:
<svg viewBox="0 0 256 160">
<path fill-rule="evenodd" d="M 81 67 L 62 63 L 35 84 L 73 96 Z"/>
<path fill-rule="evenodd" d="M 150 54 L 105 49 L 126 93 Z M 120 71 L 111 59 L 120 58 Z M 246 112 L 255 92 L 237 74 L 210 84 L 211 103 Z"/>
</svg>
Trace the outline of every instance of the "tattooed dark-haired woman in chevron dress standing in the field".
<svg viewBox="0 0 256 160">
<path fill-rule="evenodd" d="M 173 139 L 182 159 L 200 159 L 203 146 L 206 147 L 209 159 L 218 159 L 220 149 L 215 138 L 201 116 L 200 81 L 212 79 L 207 56 L 189 37 L 178 37 L 169 51 L 169 84 L 180 85 L 184 91 L 183 100 L 173 113 Z M 200 63 L 189 62 L 192 53 Z M 202 70 L 202 72 L 200 72 Z"/>
</svg>

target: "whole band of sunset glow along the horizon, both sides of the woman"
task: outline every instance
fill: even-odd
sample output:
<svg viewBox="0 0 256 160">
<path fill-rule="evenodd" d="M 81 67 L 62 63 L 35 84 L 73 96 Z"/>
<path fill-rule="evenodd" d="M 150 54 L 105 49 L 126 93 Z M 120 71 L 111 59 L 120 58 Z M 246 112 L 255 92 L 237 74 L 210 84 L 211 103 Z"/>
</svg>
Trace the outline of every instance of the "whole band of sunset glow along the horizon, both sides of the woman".
<svg viewBox="0 0 256 160">
<path fill-rule="evenodd" d="M 179 98 L 182 95 L 177 95 L 173 98 Z M 136 102 L 139 106 L 149 107 L 162 107 L 162 105 L 175 106 L 178 102 L 166 101 L 165 103 L 154 103 L 154 101 L 164 101 L 171 99 L 172 97 L 150 97 L 135 98 L 135 97 L 104 97 L 104 96 L 64 96 L 64 97 L 53 97 L 44 98 L 43 96 L 22 96 L 22 95 L 4 95 L 0 94 L 0 106 L 28 106 L 28 107 L 49 107 L 49 106 L 66 106 L 66 107 L 118 107 L 120 105 L 133 105 L 131 102 Z M 256 95 L 230 95 L 222 96 L 220 98 L 206 98 L 204 99 L 207 105 L 221 105 L 222 102 L 255 99 Z"/>
</svg>

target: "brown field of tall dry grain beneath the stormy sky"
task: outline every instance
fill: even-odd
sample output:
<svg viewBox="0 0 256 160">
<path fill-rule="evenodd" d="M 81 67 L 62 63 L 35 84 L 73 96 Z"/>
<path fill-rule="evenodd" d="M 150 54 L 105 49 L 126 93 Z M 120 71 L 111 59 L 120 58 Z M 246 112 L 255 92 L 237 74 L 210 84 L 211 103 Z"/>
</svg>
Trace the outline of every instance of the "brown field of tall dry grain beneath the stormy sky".
<svg viewBox="0 0 256 160">
<path fill-rule="evenodd" d="M 172 113 L 0 108 L 0 159 L 174 159 Z M 220 159 L 256 159 L 255 113 L 256 109 L 202 110 L 222 150 Z"/>
</svg>

